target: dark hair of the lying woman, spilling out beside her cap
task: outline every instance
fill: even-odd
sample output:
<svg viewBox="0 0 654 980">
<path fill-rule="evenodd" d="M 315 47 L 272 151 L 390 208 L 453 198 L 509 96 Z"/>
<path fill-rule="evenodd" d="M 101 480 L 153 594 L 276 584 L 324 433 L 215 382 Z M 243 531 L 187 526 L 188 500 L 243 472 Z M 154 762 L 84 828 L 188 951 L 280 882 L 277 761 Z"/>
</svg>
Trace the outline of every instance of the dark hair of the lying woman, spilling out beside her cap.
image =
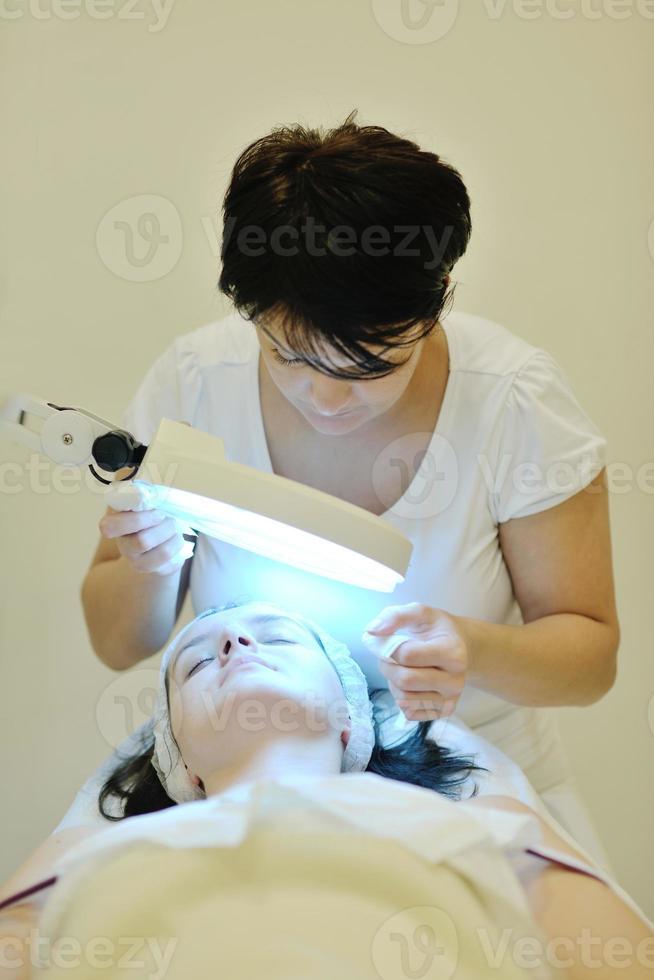
<svg viewBox="0 0 654 980">
<path fill-rule="evenodd" d="M 196 620 L 241 605 L 244 603 L 228 602 L 223 606 L 205 609 L 196 616 Z M 308 623 L 306 625 L 315 636 L 325 656 L 328 656 L 319 634 Z M 461 798 L 461 790 L 471 772 L 475 770 L 488 772 L 483 766 L 476 765 L 472 757 L 456 755 L 451 749 L 438 745 L 430 738 L 429 729 L 432 724 L 430 721 L 420 722 L 403 741 L 394 745 L 383 745 L 380 733 L 381 723 L 384 720 L 383 709 L 375 698 L 375 692 L 372 695 L 372 704 L 375 746 L 367 772 L 374 772 L 387 779 L 397 779 L 402 783 L 413 783 L 415 786 L 433 789 L 451 799 Z M 123 820 L 125 817 L 154 813 L 155 810 L 176 806 L 175 801 L 171 800 L 161 785 L 152 765 L 154 752 L 152 727 L 144 726 L 140 738 L 141 745 L 136 754 L 122 759 L 102 786 L 98 806 L 100 813 L 107 820 Z M 475 784 L 470 797 L 477 795 L 477 789 Z M 122 811 L 120 816 L 115 816 L 105 806 L 112 798 L 119 800 L 119 809 Z"/>
</svg>

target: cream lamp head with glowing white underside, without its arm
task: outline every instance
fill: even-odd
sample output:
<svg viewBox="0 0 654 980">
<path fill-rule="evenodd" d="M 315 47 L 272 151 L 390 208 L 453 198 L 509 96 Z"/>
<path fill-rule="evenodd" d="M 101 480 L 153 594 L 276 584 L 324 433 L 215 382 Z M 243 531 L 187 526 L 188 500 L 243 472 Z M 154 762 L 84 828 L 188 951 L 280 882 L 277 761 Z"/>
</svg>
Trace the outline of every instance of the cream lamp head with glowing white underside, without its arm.
<svg viewBox="0 0 654 980">
<path fill-rule="evenodd" d="M 362 507 L 295 480 L 230 463 L 223 440 L 163 419 L 134 482 L 197 531 L 364 589 L 392 592 L 412 544 Z"/>
</svg>

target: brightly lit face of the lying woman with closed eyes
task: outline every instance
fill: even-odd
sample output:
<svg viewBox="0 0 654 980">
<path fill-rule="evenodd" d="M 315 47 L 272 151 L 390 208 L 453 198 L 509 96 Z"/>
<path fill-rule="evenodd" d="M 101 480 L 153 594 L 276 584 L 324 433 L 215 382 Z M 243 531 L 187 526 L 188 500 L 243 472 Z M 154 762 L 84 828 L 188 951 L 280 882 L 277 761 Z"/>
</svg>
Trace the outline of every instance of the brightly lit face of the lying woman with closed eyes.
<svg viewBox="0 0 654 980">
<path fill-rule="evenodd" d="M 340 679 L 313 632 L 276 606 L 249 602 L 196 620 L 168 668 L 168 703 L 196 781 L 300 741 L 333 750 L 339 771 L 349 732 Z"/>
</svg>

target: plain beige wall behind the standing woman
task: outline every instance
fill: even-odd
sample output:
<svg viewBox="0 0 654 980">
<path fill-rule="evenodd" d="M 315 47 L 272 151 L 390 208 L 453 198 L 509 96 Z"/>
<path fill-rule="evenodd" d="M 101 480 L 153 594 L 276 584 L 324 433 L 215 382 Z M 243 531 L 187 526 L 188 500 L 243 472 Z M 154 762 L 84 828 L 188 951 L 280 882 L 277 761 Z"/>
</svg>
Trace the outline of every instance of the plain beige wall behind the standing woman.
<svg viewBox="0 0 654 980">
<path fill-rule="evenodd" d="M 175 335 L 229 311 L 222 194 L 274 125 L 358 108 L 461 170 L 456 308 L 549 350 L 609 440 L 619 678 L 559 714 L 621 883 L 654 915 L 654 4 L 410 0 L 405 22 L 400 0 L 0 10 L 2 398 L 118 420 Z M 167 242 L 139 234 L 145 211 Z M 158 661 L 115 674 L 87 639 L 97 491 L 6 439 L 0 466 L 4 878 L 144 720 Z"/>
</svg>

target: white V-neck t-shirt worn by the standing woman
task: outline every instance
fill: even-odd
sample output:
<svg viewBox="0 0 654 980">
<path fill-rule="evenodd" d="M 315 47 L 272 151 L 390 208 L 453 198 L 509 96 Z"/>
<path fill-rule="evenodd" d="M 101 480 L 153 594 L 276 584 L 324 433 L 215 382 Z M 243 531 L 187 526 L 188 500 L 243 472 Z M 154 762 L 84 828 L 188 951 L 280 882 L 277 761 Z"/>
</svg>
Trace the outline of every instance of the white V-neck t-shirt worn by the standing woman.
<svg viewBox="0 0 654 980">
<path fill-rule="evenodd" d="M 413 543 L 405 581 L 390 594 L 373 592 L 200 535 L 190 582 L 196 615 L 247 599 L 296 609 L 348 645 L 371 689 L 387 682 L 361 633 L 387 605 L 424 602 L 454 615 L 523 623 L 497 525 L 554 507 L 587 486 L 606 465 L 606 440 L 545 350 L 473 314 L 451 311 L 441 322 L 450 373 L 438 424 L 408 490 L 382 515 Z M 220 436 L 228 459 L 273 472 L 258 358 L 256 330 L 237 312 L 177 337 L 147 372 L 124 414 L 125 428 L 149 443 L 161 418 L 187 421 Z M 393 452 L 391 444 L 379 465 L 392 467 Z M 472 728 L 510 712 L 520 713 L 514 728 L 531 726 L 533 738 L 522 755 L 507 744 L 503 751 L 537 789 L 563 778 L 548 771 L 539 779 L 529 769 L 540 753 L 553 758 L 542 731 L 550 709 L 519 708 L 471 685 L 457 707 Z"/>
</svg>

